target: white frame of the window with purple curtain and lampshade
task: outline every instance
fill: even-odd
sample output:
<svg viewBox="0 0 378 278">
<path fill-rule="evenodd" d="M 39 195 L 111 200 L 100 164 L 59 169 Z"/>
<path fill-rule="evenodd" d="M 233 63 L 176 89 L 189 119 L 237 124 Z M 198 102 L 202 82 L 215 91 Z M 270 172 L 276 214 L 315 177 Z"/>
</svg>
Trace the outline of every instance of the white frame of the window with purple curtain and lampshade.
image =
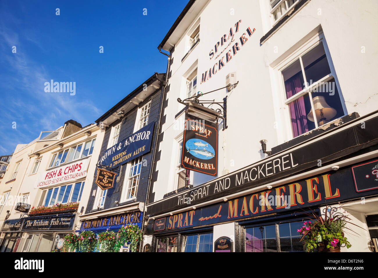
<svg viewBox="0 0 378 278">
<path fill-rule="evenodd" d="M 325 56 L 327 57 L 327 62 L 328 62 L 328 66 L 330 67 L 331 73 L 329 75 L 327 75 L 327 76 L 324 76 L 324 78 L 320 79 L 319 81 L 317 81 L 317 82 L 315 82 L 315 83 L 313 83 L 311 85 L 309 84 L 307 86 L 308 83 L 307 83 L 307 80 L 305 78 L 302 59 L 300 59 L 302 74 L 304 76 L 305 87 L 304 87 L 303 90 L 301 90 L 301 92 L 298 92 L 295 95 L 291 96 L 290 98 L 287 98 L 286 97 L 286 90 L 285 90 L 285 82 L 283 80 L 282 71 L 285 70 L 288 66 L 290 66 L 297 59 L 299 59 L 300 56 L 303 56 L 304 54 L 308 53 L 308 51 L 312 50 L 314 47 L 316 47 L 317 45 L 319 45 L 321 42 L 323 43 Z M 283 105 L 282 104 L 281 105 L 282 105 L 282 108 L 284 108 L 285 113 L 286 113 L 285 122 L 288 124 L 288 129 L 287 129 L 288 138 L 287 138 L 287 140 L 291 140 L 291 139 L 294 138 L 292 126 L 291 126 L 291 123 L 290 123 L 290 112 L 289 112 L 289 109 L 288 109 L 289 104 L 291 102 L 293 102 L 294 100 L 296 100 L 297 98 L 300 98 L 301 96 L 304 96 L 307 93 L 309 93 L 309 98 L 310 98 L 310 103 L 311 103 L 311 109 L 312 109 L 312 111 L 314 113 L 314 107 L 313 107 L 313 102 L 312 102 L 312 98 L 311 98 L 311 94 L 310 93 L 321 82 L 327 82 L 327 81 L 329 81 L 331 79 L 335 79 L 335 84 L 336 84 L 336 88 L 337 88 L 337 91 L 338 91 L 338 94 L 339 94 L 339 98 L 340 98 L 341 106 L 342 106 L 342 109 L 343 109 L 343 113 L 344 113 L 344 115 L 347 115 L 347 108 L 345 106 L 344 97 L 342 95 L 342 92 L 341 92 L 341 89 L 340 89 L 340 86 L 339 86 L 339 82 L 338 82 L 338 79 L 337 79 L 335 67 L 333 66 L 331 55 L 330 55 L 330 52 L 329 52 L 329 49 L 328 49 L 328 45 L 327 45 L 327 42 L 325 40 L 323 32 L 320 32 L 320 33 L 314 35 L 307 42 L 305 42 L 304 44 L 302 44 L 301 46 L 299 46 L 296 49 L 296 51 L 294 51 L 291 55 L 289 55 L 287 58 L 285 58 L 283 61 L 281 61 L 275 67 L 275 70 L 277 70 L 277 77 L 278 77 L 278 80 L 280 80 L 280 82 L 281 82 L 281 85 L 279 86 L 279 91 L 277 92 L 278 93 L 277 94 L 277 99 L 281 99 L 282 100 Z M 314 117 L 314 119 L 316 119 L 316 116 Z M 317 129 L 319 127 L 317 121 L 314 121 L 314 123 L 315 123 L 315 128 L 311 129 L 311 130 L 315 130 L 315 129 Z M 289 130 L 290 130 L 290 132 L 289 132 Z M 308 130 L 308 132 L 310 132 L 311 130 Z M 305 132 L 304 134 L 306 134 L 306 133 L 307 132 Z M 302 136 L 304 134 L 301 134 L 299 136 Z M 297 137 L 299 137 L 299 136 L 297 136 Z M 295 138 L 297 138 L 297 137 L 295 137 Z"/>
</svg>

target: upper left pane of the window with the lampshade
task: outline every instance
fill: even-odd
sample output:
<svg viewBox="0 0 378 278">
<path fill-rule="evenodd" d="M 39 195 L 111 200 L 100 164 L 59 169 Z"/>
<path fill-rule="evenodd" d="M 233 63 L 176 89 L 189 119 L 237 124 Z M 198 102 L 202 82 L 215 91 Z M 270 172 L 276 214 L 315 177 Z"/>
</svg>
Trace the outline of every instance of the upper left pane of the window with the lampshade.
<svg viewBox="0 0 378 278">
<path fill-rule="evenodd" d="M 304 89 L 304 79 L 299 59 L 282 71 L 285 83 L 286 98 L 301 92 Z"/>
</svg>

